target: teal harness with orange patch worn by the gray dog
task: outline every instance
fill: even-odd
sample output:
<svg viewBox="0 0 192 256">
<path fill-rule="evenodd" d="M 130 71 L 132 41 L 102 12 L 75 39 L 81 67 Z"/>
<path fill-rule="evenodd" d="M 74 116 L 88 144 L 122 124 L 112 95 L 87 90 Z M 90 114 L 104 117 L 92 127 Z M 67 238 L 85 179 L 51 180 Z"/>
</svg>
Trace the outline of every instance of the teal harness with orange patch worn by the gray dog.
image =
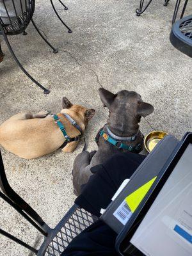
<svg viewBox="0 0 192 256">
<path fill-rule="evenodd" d="M 132 145 L 127 145 L 125 143 L 122 143 L 122 141 L 135 141 L 138 133 L 140 131 L 138 131 L 137 134 L 134 134 L 131 137 L 118 137 L 115 134 L 113 134 L 109 128 L 106 126 L 106 129 L 108 131 L 108 133 L 104 132 L 104 129 L 100 129 L 100 131 L 98 132 L 95 141 L 99 142 L 99 137 L 102 136 L 102 138 L 104 138 L 105 141 L 108 141 L 109 143 L 111 143 L 113 146 L 115 146 L 116 148 L 120 149 L 125 149 L 125 150 L 129 150 L 130 152 L 134 152 L 134 153 L 139 153 L 142 149 L 143 146 L 143 136 L 142 136 L 142 142 L 138 143 L 136 146 L 132 146 Z"/>
</svg>

